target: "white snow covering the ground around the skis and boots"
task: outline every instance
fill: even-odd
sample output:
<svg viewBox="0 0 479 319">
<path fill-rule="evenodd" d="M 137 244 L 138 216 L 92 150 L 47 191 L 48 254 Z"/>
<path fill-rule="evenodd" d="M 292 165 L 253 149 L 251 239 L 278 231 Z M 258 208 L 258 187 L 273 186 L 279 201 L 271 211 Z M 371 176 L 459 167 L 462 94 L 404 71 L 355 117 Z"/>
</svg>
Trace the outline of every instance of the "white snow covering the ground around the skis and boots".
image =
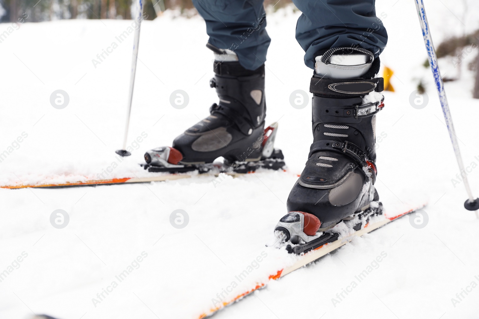
<svg viewBox="0 0 479 319">
<path fill-rule="evenodd" d="M 462 207 L 466 195 L 432 76 L 421 66 L 426 55 L 414 3 L 393 2 L 377 3 L 390 37 L 381 60 L 395 71 L 396 92 L 385 93 L 386 108 L 378 115 L 376 186 L 389 211 L 426 194 L 427 226 L 416 229 L 402 218 L 272 282 L 217 318 L 477 318 L 479 220 Z M 479 27 L 477 3 L 463 16 L 458 1 L 440 2 L 426 3 L 436 42 Z M 32 311 L 62 319 L 196 318 L 244 270 L 249 275 L 238 284 L 246 288 L 274 273 L 284 255 L 264 244 L 286 212 L 311 143 L 310 103 L 301 110 L 289 104 L 294 90 L 308 91 L 311 76 L 294 38 L 298 16 L 281 9 L 269 14 L 267 27 L 273 40 L 266 121 L 279 121 L 276 147 L 288 171 L 220 176 L 215 183 L 202 176 L 147 185 L 0 188 L 0 318 L 23 319 Z M 145 21 L 129 134 L 133 155 L 118 161 L 114 150 L 123 138 L 133 34 L 122 43 L 115 37 L 130 24 L 24 23 L 9 32 L 0 44 L 0 153 L 8 153 L 0 163 L 1 185 L 97 176 L 114 162 L 108 177 L 146 174 L 137 171 L 145 150 L 170 145 L 207 115 L 217 98 L 208 86 L 212 54 L 205 48 L 204 22 L 169 12 Z M 0 33 L 9 26 L 0 24 Z M 108 49 L 113 42 L 118 46 Z M 111 53 L 95 67 L 92 59 L 103 49 Z M 460 65 L 460 81 L 446 83 L 476 195 L 479 100 L 470 98 L 467 65 L 477 54 L 476 48 Z M 442 63 L 450 64 L 448 59 Z M 423 109 L 409 102 L 419 78 L 428 88 Z M 61 110 L 50 104 L 57 89 L 69 96 Z M 169 102 L 177 89 L 189 96 L 181 110 Z M 68 212 L 63 229 L 50 224 L 56 209 Z M 189 215 L 183 229 L 170 224 L 176 209 Z M 348 288 L 368 266 L 373 271 L 365 280 Z M 129 275 L 120 281 L 115 276 L 124 270 Z M 100 299 L 103 289 L 109 292 Z M 339 299 L 342 289 L 351 291 Z"/>
</svg>

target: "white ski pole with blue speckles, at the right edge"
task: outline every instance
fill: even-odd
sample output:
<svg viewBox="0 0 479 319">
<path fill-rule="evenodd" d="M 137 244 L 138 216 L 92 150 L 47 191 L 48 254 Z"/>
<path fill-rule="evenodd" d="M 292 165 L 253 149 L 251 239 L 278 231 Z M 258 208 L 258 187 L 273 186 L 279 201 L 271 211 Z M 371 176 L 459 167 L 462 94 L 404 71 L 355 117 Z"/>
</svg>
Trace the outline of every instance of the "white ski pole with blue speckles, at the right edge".
<svg viewBox="0 0 479 319">
<path fill-rule="evenodd" d="M 451 138 L 452 147 L 454 148 L 454 153 L 456 154 L 457 165 L 459 165 L 459 171 L 461 176 L 464 170 L 464 164 L 462 162 L 461 152 L 459 151 L 459 144 L 457 143 L 456 132 L 454 131 L 454 125 L 452 123 L 451 113 L 449 112 L 449 104 L 447 102 L 446 93 L 444 90 L 444 82 L 441 77 L 441 72 L 439 71 L 439 66 L 437 64 L 436 50 L 434 49 L 433 39 L 431 37 L 431 32 L 429 29 L 429 23 L 427 22 L 426 11 L 424 9 L 423 0 L 415 0 L 416 9 L 419 15 L 419 22 L 422 28 L 422 36 L 424 38 L 424 44 L 426 44 L 426 51 L 429 58 L 429 64 L 433 70 L 434 82 L 437 88 L 437 93 L 439 94 L 439 100 L 441 101 L 441 108 L 443 109 L 444 119 L 446 121 L 447 130 L 449 131 L 449 137 Z M 421 1 L 421 3 L 419 2 Z M 471 188 L 469 187 L 468 176 L 464 174 L 463 176 L 464 186 L 466 187 L 466 192 L 468 193 L 468 199 L 464 202 L 464 208 L 468 210 L 475 210 L 476 217 L 479 218 L 478 209 L 479 209 L 479 200 L 478 198 L 474 199 L 472 196 Z"/>
</svg>

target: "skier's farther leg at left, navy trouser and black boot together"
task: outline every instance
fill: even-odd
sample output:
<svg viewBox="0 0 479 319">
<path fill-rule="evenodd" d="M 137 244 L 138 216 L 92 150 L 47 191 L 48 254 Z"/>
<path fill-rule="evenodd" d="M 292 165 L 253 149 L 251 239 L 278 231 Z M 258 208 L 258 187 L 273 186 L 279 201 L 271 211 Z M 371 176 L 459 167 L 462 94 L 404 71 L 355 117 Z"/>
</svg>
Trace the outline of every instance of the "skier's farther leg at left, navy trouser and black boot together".
<svg viewBox="0 0 479 319">
<path fill-rule="evenodd" d="M 264 131 L 263 63 L 270 38 L 262 0 L 193 3 L 210 36 L 206 46 L 215 56 L 210 86 L 216 88 L 219 102 L 210 107 L 210 116 L 178 136 L 173 148 L 149 151 L 145 160 L 170 171 L 177 165 L 211 163 L 220 156 L 236 172 L 252 171 L 259 165 L 281 168 L 284 162 L 281 152 L 273 149 L 274 135 L 266 139 Z M 274 134 L 275 128 L 268 127 L 268 133 Z"/>
</svg>

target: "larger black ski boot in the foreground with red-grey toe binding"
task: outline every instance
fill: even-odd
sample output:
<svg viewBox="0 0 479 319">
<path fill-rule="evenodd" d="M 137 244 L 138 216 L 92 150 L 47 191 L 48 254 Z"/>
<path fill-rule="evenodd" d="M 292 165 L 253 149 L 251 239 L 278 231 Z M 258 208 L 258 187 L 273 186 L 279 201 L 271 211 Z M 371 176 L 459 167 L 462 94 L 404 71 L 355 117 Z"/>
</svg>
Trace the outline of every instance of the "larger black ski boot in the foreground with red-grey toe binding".
<svg viewBox="0 0 479 319">
<path fill-rule="evenodd" d="M 316 57 L 311 78 L 313 143 L 275 228 L 288 250 L 304 253 L 382 213 L 376 181 L 376 113 L 384 107 L 379 58 L 361 48 L 333 48 Z"/>
</svg>

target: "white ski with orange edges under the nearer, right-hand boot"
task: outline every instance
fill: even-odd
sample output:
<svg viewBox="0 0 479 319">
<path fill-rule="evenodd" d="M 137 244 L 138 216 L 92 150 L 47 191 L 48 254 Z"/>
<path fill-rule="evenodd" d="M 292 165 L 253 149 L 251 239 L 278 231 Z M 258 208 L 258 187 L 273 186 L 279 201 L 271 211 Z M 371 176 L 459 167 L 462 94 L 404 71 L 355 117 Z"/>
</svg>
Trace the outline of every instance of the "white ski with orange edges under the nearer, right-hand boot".
<svg viewBox="0 0 479 319">
<path fill-rule="evenodd" d="M 311 248 L 307 253 L 302 254 L 294 264 L 278 269 L 276 273 L 269 275 L 267 280 L 259 281 L 256 284 L 256 286 L 252 287 L 250 290 L 244 291 L 243 293 L 240 293 L 236 297 L 228 301 L 222 302 L 221 305 L 217 306 L 216 308 L 210 308 L 208 311 L 203 312 L 198 317 L 198 319 L 204 319 L 204 318 L 210 317 L 214 315 L 215 313 L 217 313 L 218 310 L 221 310 L 227 306 L 230 306 L 231 304 L 239 301 L 243 297 L 250 295 L 256 290 L 264 288 L 265 286 L 267 286 L 267 284 L 271 280 L 277 280 L 279 278 L 282 278 L 285 275 L 288 275 L 292 273 L 293 271 L 301 267 L 304 267 L 318 260 L 319 258 L 327 255 L 328 253 L 331 253 L 332 251 L 342 247 L 346 243 L 351 242 L 354 238 L 361 237 L 366 233 L 369 233 L 380 227 L 383 227 L 384 225 L 390 223 L 391 221 L 398 220 L 402 216 L 408 215 L 418 209 L 422 209 L 426 205 L 427 203 L 423 203 L 421 205 L 414 206 L 413 208 L 406 209 L 399 213 L 393 213 L 391 215 L 386 214 L 386 215 L 376 216 L 375 218 L 369 220 L 369 222 L 367 222 L 361 229 L 354 230 L 353 232 L 345 236 L 342 236 L 339 239 L 338 239 L 338 235 L 339 235 L 338 233 L 331 235 L 331 233 L 325 232 L 321 237 L 319 237 L 319 239 L 322 239 L 322 242 L 318 242 L 318 241 L 315 242 L 316 245 L 313 248 Z M 383 217 L 383 218 L 381 219 L 380 217 Z M 289 251 L 289 253 L 291 253 L 291 251 Z"/>
</svg>

